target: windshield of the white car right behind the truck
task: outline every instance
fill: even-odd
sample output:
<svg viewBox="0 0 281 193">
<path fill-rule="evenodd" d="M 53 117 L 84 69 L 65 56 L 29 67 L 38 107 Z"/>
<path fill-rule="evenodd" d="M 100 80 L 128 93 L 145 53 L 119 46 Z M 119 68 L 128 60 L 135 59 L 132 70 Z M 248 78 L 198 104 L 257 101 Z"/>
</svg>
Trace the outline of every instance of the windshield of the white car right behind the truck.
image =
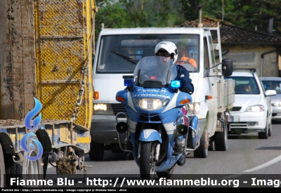
<svg viewBox="0 0 281 193">
<path fill-rule="evenodd" d="M 228 80 L 235 80 L 235 95 L 259 95 L 259 86 L 254 77 L 230 76 Z"/>
</svg>

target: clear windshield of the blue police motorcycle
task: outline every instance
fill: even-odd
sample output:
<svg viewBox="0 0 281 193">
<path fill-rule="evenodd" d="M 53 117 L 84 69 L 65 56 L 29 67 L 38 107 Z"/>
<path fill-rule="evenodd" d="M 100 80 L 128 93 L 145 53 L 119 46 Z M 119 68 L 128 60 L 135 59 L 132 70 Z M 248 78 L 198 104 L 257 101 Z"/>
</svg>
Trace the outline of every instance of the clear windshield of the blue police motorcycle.
<svg viewBox="0 0 281 193">
<path fill-rule="evenodd" d="M 173 61 L 157 55 L 142 58 L 133 72 L 136 86 L 146 88 L 167 87 L 176 75 Z"/>
</svg>

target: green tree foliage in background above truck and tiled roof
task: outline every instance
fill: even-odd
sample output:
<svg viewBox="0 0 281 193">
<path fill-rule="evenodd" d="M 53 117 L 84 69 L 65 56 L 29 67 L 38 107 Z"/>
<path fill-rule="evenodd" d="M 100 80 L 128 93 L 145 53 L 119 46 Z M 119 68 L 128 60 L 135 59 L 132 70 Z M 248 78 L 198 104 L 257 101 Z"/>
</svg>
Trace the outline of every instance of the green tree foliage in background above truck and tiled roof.
<svg viewBox="0 0 281 193">
<path fill-rule="evenodd" d="M 96 0 L 96 39 L 101 30 L 117 27 L 174 27 L 202 16 L 222 19 L 240 27 L 281 36 L 280 0 Z"/>
</svg>

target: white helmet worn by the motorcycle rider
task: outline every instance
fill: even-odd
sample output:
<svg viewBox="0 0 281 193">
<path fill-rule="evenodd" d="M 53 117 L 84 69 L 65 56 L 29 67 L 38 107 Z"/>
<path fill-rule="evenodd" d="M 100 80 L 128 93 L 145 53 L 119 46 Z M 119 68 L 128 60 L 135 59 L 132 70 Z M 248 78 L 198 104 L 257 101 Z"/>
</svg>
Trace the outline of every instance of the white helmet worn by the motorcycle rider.
<svg viewBox="0 0 281 193">
<path fill-rule="evenodd" d="M 171 60 L 173 63 L 176 63 L 178 60 L 178 48 L 176 45 L 171 41 L 161 41 L 155 46 L 155 55 L 159 55 L 159 51 L 165 50 L 171 55 Z"/>
</svg>

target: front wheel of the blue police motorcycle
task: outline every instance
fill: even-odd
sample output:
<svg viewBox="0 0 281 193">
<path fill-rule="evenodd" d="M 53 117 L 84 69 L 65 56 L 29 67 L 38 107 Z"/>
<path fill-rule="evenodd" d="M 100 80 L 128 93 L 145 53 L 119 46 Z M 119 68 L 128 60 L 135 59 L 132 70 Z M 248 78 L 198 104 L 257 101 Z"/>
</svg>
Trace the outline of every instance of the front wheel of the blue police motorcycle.
<svg viewBox="0 0 281 193">
<path fill-rule="evenodd" d="M 152 180 L 155 175 L 156 142 L 141 142 L 140 173 L 142 180 Z"/>
</svg>

